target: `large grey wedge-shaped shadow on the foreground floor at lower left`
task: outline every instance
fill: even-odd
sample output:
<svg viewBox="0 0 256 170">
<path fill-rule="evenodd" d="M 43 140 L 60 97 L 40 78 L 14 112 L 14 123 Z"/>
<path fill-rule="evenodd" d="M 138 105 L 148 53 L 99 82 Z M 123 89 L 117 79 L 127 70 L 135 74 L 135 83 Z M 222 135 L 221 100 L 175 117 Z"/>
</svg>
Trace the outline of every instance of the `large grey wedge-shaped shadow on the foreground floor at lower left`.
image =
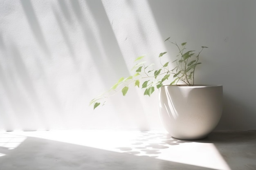
<svg viewBox="0 0 256 170">
<path fill-rule="evenodd" d="M 39 167 L 72 170 L 213 170 L 35 137 L 27 137 L 17 148 L 11 150 L 0 147 L 0 153 L 1 170 L 18 167 L 20 170 Z"/>
</svg>

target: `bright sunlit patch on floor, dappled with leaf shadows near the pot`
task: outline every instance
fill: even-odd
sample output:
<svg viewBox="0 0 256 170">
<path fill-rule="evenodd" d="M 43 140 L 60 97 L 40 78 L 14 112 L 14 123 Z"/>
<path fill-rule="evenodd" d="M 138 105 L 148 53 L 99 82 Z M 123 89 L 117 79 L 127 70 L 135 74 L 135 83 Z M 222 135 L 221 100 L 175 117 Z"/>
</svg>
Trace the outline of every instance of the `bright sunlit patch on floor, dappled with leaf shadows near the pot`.
<svg viewBox="0 0 256 170">
<path fill-rule="evenodd" d="M 5 135 L 3 137 L 3 135 Z M 37 137 L 113 152 L 173 161 L 194 166 L 230 170 L 218 149 L 211 143 L 174 139 L 164 130 L 54 130 L 8 132 L 2 134 L 2 146 L 15 148 L 27 137 Z"/>
</svg>

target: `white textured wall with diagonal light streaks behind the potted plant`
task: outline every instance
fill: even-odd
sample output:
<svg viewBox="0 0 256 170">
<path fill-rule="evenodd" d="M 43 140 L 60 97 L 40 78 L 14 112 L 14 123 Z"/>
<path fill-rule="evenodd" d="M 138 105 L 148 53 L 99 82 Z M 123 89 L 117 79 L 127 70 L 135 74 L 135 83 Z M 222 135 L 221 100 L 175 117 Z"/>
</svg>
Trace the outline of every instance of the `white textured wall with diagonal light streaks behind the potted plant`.
<svg viewBox="0 0 256 170">
<path fill-rule="evenodd" d="M 130 90 L 95 111 L 88 102 L 136 57 L 172 54 L 169 36 L 209 46 L 196 81 L 224 86 L 217 129 L 256 129 L 255 9 L 254 0 L 1 0 L 0 130 L 162 128 L 157 93 Z"/>
</svg>

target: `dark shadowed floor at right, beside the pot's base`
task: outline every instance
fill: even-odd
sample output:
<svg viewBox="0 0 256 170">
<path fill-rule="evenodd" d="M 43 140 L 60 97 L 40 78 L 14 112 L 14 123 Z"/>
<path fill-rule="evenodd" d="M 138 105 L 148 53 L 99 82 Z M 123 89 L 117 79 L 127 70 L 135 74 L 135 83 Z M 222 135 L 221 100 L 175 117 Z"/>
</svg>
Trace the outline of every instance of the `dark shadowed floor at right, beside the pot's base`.
<svg viewBox="0 0 256 170">
<path fill-rule="evenodd" d="M 231 170 L 256 170 L 256 131 L 216 131 L 195 142 L 213 143 Z"/>
</svg>

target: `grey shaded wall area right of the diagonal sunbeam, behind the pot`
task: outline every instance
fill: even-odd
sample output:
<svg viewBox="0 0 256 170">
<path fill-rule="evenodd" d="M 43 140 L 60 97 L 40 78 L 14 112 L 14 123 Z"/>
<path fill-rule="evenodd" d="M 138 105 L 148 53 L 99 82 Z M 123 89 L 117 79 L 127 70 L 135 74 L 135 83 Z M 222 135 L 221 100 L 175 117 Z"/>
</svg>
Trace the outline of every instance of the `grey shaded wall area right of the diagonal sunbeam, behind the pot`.
<svg viewBox="0 0 256 170">
<path fill-rule="evenodd" d="M 251 38 L 254 34 L 250 32 L 255 24 L 251 25 L 254 22 L 243 19 L 251 18 L 253 13 L 250 10 L 247 11 L 248 13 L 240 13 L 239 11 L 244 11 L 246 7 L 239 6 L 240 2 L 200 2 L 203 1 L 149 0 L 163 37 L 171 33 L 173 34 L 171 35 L 172 38 L 182 38 L 184 41 L 186 39 L 195 40 L 194 44 L 197 44 L 197 41 L 200 40 L 200 42 L 206 42 L 206 45 L 209 46 L 209 53 L 204 53 L 205 58 L 202 56 L 203 60 L 200 59 L 204 70 L 200 72 L 198 69 L 196 71 L 196 75 L 199 75 L 196 81 L 205 84 L 217 83 L 223 85 L 224 110 L 217 129 L 255 129 L 256 107 L 254 103 L 256 99 L 254 86 L 256 82 L 253 64 L 256 60 L 253 57 L 255 50 L 249 48 L 250 44 L 255 44 L 255 41 L 251 41 L 254 40 Z M 248 7 L 254 6 L 252 5 L 254 3 L 250 3 L 251 1 L 247 3 Z M 225 17 L 223 17 L 224 15 Z M 209 18 L 212 18 L 212 20 L 208 20 Z M 248 31 L 234 30 L 233 37 L 228 40 L 226 34 L 234 27 L 233 25 L 238 26 L 238 23 L 243 25 L 242 29 L 248 29 Z M 189 28 L 187 25 L 189 25 Z M 245 42 L 243 43 L 243 41 Z M 230 53 L 230 50 L 235 52 Z M 243 89 L 244 85 L 246 89 Z"/>
</svg>

